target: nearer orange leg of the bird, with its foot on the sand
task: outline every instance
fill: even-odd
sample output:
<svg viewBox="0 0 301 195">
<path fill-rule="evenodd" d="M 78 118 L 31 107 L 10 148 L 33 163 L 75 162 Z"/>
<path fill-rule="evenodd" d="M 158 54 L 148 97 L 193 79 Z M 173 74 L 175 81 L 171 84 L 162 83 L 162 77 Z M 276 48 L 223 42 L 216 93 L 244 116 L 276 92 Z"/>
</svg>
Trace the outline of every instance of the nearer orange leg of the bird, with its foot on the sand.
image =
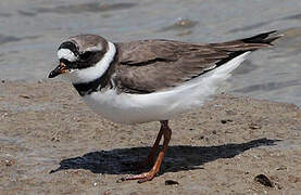
<svg viewBox="0 0 301 195">
<path fill-rule="evenodd" d="M 161 122 L 161 130 L 162 130 L 162 133 L 164 135 L 164 142 L 163 142 L 162 150 L 159 153 L 158 158 L 154 162 L 154 166 L 152 167 L 152 169 L 149 172 L 143 172 L 143 173 L 136 174 L 136 176 L 129 176 L 129 177 L 126 177 L 126 178 L 122 178 L 121 179 L 122 181 L 139 180 L 138 182 L 142 183 L 142 182 L 152 180 L 154 178 L 154 176 L 159 172 L 160 166 L 162 164 L 163 157 L 166 153 L 170 140 L 172 138 L 172 129 L 168 127 L 168 120 L 163 120 L 163 121 L 160 121 L 160 122 Z M 159 141 L 160 141 L 160 139 L 159 139 Z"/>
</svg>

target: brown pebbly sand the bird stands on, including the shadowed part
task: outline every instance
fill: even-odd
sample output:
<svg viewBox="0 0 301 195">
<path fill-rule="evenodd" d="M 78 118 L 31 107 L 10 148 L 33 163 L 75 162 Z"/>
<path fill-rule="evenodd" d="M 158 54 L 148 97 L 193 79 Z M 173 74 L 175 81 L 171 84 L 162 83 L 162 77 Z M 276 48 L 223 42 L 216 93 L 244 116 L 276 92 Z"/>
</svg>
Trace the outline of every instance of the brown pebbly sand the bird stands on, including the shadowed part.
<svg viewBox="0 0 301 195">
<path fill-rule="evenodd" d="M 47 81 L 0 83 L 0 121 L 1 194 L 301 193 L 301 110 L 292 104 L 222 94 L 171 120 L 160 176 L 142 184 L 116 180 L 147 156 L 158 122 L 113 123 L 71 84 Z"/>
</svg>

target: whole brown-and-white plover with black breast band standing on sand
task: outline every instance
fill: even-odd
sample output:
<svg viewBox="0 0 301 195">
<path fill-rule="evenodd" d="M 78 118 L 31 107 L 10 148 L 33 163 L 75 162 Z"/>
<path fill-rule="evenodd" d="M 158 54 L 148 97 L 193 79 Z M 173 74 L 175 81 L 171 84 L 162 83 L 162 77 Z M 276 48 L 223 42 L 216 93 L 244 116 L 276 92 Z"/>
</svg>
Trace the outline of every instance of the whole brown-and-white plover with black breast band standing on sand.
<svg viewBox="0 0 301 195">
<path fill-rule="evenodd" d="M 121 179 L 142 183 L 160 171 L 172 136 L 168 120 L 202 107 L 247 55 L 272 47 L 281 36 L 273 30 L 226 42 L 195 43 L 166 39 L 111 42 L 80 34 L 60 44 L 59 65 L 48 77 L 66 76 L 92 110 L 114 122 L 160 121 L 155 142 L 139 164 L 152 168 Z"/>
</svg>

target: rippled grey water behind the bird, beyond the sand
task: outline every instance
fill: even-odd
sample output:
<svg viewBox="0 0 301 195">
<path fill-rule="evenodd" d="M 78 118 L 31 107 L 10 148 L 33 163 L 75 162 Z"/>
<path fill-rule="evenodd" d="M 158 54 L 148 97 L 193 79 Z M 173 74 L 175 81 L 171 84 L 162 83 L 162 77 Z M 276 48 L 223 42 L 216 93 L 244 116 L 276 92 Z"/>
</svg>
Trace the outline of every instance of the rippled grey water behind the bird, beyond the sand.
<svg viewBox="0 0 301 195">
<path fill-rule="evenodd" d="M 60 42 L 80 32 L 113 41 L 220 42 L 279 29 L 286 37 L 253 53 L 228 91 L 301 106 L 300 10 L 300 0 L 1 0 L 0 79 L 46 78 Z"/>
</svg>

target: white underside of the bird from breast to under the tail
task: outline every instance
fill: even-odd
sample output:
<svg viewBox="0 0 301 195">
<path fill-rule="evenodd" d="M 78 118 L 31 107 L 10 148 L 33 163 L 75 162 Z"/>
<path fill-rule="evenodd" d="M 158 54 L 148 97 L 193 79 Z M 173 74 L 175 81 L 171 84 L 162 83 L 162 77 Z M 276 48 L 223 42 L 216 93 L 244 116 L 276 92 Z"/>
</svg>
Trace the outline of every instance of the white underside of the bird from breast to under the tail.
<svg viewBox="0 0 301 195">
<path fill-rule="evenodd" d="M 115 122 L 141 123 L 167 120 L 197 108 L 216 92 L 220 83 L 230 76 L 249 52 L 225 65 L 168 91 L 150 94 L 116 93 L 115 90 L 93 92 L 85 102 L 98 114 Z"/>
</svg>

